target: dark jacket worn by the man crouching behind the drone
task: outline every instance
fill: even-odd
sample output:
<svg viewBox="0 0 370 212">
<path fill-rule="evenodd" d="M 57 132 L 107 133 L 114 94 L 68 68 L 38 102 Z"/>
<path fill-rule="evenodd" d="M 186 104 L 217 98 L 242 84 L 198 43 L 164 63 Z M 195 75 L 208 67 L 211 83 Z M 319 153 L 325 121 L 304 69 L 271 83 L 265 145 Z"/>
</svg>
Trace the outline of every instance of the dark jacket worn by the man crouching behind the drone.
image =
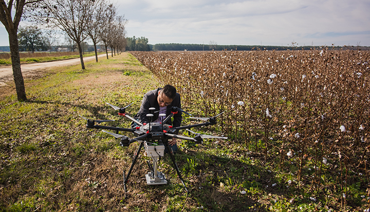
<svg viewBox="0 0 370 212">
<path fill-rule="evenodd" d="M 139 109 L 139 112 L 136 113 L 134 116 L 134 119 L 137 119 L 141 123 L 149 123 L 150 119 L 149 117 L 146 117 L 146 114 L 149 114 L 149 108 L 155 107 L 155 111 L 159 110 L 159 104 L 158 104 L 158 91 L 162 88 L 158 88 L 155 90 L 148 91 L 144 94 L 144 98 L 141 102 L 141 106 Z M 154 117 L 152 117 L 152 121 L 157 120 L 159 117 L 159 113 L 165 113 L 166 117 L 168 117 L 171 114 L 171 108 L 172 107 L 178 107 L 181 108 L 181 101 L 180 101 L 180 94 L 176 93 L 175 99 L 172 101 L 171 105 L 167 106 L 167 111 L 160 111 L 155 112 Z M 172 125 L 174 127 L 179 127 L 181 125 L 182 120 L 182 112 L 178 111 L 177 114 L 173 115 L 173 123 L 171 120 L 169 120 L 166 124 Z"/>
</svg>

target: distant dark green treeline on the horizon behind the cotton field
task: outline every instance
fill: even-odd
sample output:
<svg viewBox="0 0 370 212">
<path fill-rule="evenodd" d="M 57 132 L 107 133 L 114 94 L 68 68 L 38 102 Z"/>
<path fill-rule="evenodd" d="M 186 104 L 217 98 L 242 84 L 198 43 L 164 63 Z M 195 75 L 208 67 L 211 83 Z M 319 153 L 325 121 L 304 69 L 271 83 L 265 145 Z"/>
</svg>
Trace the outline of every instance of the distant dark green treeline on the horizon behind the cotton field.
<svg viewBox="0 0 370 212">
<path fill-rule="evenodd" d="M 155 44 L 150 45 L 153 51 L 221 51 L 221 50 L 238 50 L 238 51 L 251 51 L 251 50 L 310 50 L 321 49 L 322 46 L 243 46 L 243 45 L 206 45 L 206 44 Z M 370 47 L 363 46 L 328 46 L 333 50 L 347 50 L 347 49 L 361 49 L 370 50 Z"/>
</svg>

